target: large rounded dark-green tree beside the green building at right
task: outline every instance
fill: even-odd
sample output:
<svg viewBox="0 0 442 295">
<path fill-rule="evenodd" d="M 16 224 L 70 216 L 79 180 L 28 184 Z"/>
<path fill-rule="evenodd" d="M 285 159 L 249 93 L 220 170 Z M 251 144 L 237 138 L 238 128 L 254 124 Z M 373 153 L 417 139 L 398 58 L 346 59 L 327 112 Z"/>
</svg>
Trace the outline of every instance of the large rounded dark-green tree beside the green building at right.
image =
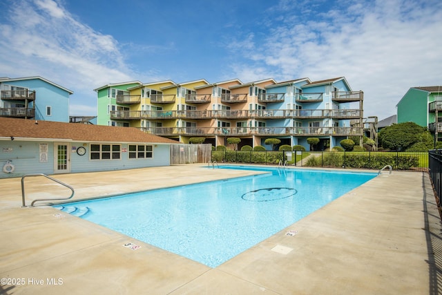
<svg viewBox="0 0 442 295">
<path fill-rule="evenodd" d="M 384 149 L 405 151 L 416 142 L 432 142 L 431 134 L 425 127 L 414 122 L 405 122 L 387 126 L 378 135 Z M 431 144 L 430 144 L 431 145 Z"/>
</svg>

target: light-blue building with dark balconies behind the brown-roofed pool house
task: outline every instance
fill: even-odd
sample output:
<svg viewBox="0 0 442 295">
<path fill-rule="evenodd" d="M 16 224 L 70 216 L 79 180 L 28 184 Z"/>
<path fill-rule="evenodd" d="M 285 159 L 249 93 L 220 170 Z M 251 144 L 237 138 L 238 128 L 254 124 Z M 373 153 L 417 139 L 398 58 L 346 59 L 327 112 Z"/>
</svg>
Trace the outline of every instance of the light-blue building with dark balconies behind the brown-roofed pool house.
<svg viewBox="0 0 442 295">
<path fill-rule="evenodd" d="M 72 94 L 43 77 L 1 77 L 0 117 L 69 122 Z"/>
</svg>

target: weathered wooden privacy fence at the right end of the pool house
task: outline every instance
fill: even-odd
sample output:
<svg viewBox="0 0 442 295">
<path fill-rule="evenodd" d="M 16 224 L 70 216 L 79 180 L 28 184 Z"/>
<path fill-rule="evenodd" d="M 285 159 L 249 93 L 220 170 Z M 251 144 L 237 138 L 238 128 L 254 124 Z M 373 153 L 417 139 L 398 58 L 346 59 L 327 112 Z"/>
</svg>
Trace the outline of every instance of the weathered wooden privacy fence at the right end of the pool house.
<svg viewBox="0 0 442 295">
<path fill-rule="evenodd" d="M 211 152 L 211 144 L 171 144 L 171 165 L 208 163 Z"/>
</svg>

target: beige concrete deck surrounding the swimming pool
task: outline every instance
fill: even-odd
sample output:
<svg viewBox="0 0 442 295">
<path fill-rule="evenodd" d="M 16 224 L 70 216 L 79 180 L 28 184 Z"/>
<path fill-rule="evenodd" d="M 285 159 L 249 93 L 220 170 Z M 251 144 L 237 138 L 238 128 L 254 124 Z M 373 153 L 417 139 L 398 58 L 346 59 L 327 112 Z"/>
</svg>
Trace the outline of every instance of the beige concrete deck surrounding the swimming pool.
<svg viewBox="0 0 442 295">
<path fill-rule="evenodd" d="M 255 173 L 192 164 L 52 177 L 76 200 Z M 52 207 L 23 208 L 20 181 L 0 179 L 0 294 L 440 292 L 441 220 L 427 173 L 378 176 L 215 268 Z M 27 205 L 70 195 L 41 177 L 25 188 Z"/>
</svg>

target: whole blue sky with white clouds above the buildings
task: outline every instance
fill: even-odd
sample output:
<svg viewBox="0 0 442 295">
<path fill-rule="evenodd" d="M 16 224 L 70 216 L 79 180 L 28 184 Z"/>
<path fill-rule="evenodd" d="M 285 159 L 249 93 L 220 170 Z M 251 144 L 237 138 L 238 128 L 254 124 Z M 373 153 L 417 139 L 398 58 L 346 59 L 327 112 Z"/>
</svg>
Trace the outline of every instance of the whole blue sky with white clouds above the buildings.
<svg viewBox="0 0 442 295">
<path fill-rule="evenodd" d="M 96 115 L 94 88 L 344 76 L 379 120 L 442 85 L 440 0 L 3 0 L 0 77 L 41 76 Z"/>
</svg>

